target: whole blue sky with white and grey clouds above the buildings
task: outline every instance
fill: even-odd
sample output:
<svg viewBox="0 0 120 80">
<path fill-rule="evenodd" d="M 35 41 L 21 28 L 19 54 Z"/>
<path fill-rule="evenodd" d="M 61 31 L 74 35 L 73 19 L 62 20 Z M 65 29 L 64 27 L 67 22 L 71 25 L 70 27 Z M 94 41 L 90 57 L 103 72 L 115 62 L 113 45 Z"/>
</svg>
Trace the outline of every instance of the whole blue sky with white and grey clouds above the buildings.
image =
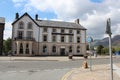
<svg viewBox="0 0 120 80">
<path fill-rule="evenodd" d="M 4 39 L 11 37 L 15 13 L 36 14 L 42 20 L 74 22 L 87 29 L 93 39 L 108 37 L 106 20 L 111 19 L 112 36 L 120 35 L 120 0 L 0 0 L 0 17 L 5 17 Z"/>
</svg>

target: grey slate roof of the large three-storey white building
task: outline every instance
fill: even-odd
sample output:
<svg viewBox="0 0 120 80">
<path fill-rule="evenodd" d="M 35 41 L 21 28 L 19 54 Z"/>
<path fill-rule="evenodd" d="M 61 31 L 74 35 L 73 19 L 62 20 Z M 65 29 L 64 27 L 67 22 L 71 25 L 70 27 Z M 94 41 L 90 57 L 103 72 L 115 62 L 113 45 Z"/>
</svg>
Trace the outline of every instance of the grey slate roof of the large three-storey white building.
<svg viewBox="0 0 120 80">
<path fill-rule="evenodd" d="M 50 21 L 50 20 L 35 20 L 28 13 L 24 13 L 21 17 L 15 20 L 13 24 L 19 21 L 22 17 L 28 16 L 37 26 L 39 27 L 57 27 L 57 28 L 74 28 L 74 29 L 83 29 L 86 30 L 82 25 L 72 23 L 72 22 L 63 22 L 63 21 Z"/>
</svg>

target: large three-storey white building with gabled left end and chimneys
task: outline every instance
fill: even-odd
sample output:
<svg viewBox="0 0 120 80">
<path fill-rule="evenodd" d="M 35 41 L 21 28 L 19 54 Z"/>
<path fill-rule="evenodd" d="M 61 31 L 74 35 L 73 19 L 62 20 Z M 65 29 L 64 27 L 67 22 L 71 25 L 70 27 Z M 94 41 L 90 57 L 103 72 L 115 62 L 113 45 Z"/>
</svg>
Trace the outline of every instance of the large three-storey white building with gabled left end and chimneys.
<svg viewBox="0 0 120 80">
<path fill-rule="evenodd" d="M 72 22 L 33 19 L 28 13 L 12 23 L 12 53 L 32 55 L 83 55 L 86 53 L 86 28 L 79 19 Z"/>
</svg>

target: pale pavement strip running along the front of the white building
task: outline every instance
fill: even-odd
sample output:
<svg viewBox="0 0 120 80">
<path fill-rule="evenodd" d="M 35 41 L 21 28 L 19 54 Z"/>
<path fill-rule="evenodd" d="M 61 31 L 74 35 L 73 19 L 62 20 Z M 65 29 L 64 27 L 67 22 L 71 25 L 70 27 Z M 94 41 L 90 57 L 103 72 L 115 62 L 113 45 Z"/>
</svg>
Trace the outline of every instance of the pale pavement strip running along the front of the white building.
<svg viewBox="0 0 120 80">
<path fill-rule="evenodd" d="M 113 56 L 116 57 L 116 56 Z M 119 56 L 120 57 L 120 56 Z M 119 58 L 118 57 L 118 58 Z M 109 56 L 97 56 L 92 58 L 109 58 Z M 19 56 L 0 56 L 0 61 L 70 61 L 80 60 L 83 57 L 73 56 L 73 59 L 69 59 L 68 56 L 40 56 L 40 57 L 19 57 Z"/>
</svg>

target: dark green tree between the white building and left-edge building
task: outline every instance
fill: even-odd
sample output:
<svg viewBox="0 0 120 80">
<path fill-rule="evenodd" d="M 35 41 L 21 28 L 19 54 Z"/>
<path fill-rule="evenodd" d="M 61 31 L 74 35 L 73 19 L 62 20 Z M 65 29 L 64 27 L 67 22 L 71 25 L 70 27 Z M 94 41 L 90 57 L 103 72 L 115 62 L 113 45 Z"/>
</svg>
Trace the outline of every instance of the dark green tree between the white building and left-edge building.
<svg viewBox="0 0 120 80">
<path fill-rule="evenodd" d="M 3 52 L 5 53 L 5 55 L 8 55 L 8 52 L 11 51 L 11 44 L 12 44 L 12 39 L 11 38 L 7 38 L 7 40 L 4 40 Z"/>
</svg>

